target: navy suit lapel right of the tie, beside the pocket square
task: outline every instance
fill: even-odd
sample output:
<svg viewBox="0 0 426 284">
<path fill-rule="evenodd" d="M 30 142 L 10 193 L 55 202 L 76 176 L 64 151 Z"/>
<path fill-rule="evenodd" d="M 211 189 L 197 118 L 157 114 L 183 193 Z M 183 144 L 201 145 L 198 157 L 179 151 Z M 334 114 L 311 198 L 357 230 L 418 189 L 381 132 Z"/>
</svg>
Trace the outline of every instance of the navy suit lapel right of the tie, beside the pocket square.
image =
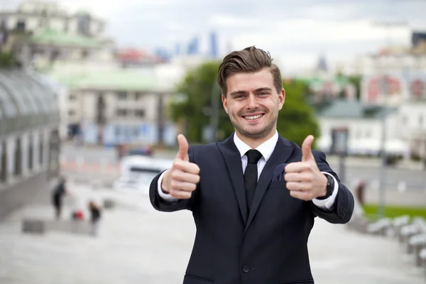
<svg viewBox="0 0 426 284">
<path fill-rule="evenodd" d="M 290 158 L 291 153 L 293 153 L 293 149 L 294 146 L 292 146 L 288 140 L 281 136 L 278 136 L 278 141 L 275 145 L 275 149 L 268 162 L 266 163 L 265 167 L 263 168 L 261 176 L 258 180 L 258 184 L 256 186 L 256 193 L 253 198 L 253 204 L 251 204 L 249 219 L 246 222 L 246 230 L 244 231 L 244 234 L 246 233 L 247 228 L 253 220 L 253 217 L 256 214 L 259 205 L 261 204 L 263 195 L 265 195 L 266 189 L 268 188 L 268 185 L 271 182 L 273 170 L 277 165 L 285 163 L 288 158 Z"/>
</svg>

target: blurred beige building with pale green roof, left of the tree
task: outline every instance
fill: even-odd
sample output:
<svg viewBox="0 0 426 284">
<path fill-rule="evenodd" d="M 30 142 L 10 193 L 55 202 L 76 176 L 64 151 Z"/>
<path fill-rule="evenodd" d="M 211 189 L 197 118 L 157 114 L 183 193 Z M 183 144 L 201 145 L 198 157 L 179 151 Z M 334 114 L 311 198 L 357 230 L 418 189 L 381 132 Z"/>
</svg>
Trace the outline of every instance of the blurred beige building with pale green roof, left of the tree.
<svg viewBox="0 0 426 284">
<path fill-rule="evenodd" d="M 86 72 L 55 77 L 60 94 L 61 137 L 86 144 L 175 144 L 167 107 L 173 85 L 138 70 Z"/>
</svg>

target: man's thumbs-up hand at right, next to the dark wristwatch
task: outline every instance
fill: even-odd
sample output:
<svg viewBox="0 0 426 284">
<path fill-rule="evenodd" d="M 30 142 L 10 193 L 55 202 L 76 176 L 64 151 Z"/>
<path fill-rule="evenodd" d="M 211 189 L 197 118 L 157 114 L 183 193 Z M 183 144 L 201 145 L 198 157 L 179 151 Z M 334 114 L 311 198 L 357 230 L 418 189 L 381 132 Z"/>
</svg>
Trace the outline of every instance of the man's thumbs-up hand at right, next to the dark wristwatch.
<svg viewBox="0 0 426 284">
<path fill-rule="evenodd" d="M 302 160 L 285 167 L 287 189 L 299 200 L 313 200 L 327 193 L 327 178 L 320 172 L 311 151 L 313 141 L 314 136 L 307 136 L 302 143 Z"/>
</svg>

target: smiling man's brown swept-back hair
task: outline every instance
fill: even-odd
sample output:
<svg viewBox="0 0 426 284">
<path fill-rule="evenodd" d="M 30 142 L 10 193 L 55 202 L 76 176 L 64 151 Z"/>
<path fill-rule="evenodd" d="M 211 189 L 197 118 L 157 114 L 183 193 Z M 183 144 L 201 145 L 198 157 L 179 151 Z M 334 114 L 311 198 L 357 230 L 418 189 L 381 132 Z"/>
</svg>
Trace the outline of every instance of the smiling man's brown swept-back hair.
<svg viewBox="0 0 426 284">
<path fill-rule="evenodd" d="M 217 83 L 222 89 L 222 94 L 226 97 L 226 80 L 236 73 L 253 73 L 269 68 L 273 76 L 273 84 L 277 92 L 283 89 L 283 79 L 278 67 L 273 64 L 271 55 L 265 50 L 250 46 L 243 50 L 236 50 L 226 55 L 219 66 Z"/>
</svg>

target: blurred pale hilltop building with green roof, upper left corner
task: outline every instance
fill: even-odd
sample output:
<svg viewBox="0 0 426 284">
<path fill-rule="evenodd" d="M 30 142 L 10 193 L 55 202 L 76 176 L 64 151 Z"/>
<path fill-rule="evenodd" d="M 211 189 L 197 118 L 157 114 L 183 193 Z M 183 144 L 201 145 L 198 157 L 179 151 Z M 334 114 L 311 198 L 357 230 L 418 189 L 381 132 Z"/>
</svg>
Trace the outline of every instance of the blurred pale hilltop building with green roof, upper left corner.
<svg viewBox="0 0 426 284">
<path fill-rule="evenodd" d="M 28 0 L 16 11 L 0 11 L 4 48 L 38 70 L 64 61 L 112 60 L 114 42 L 104 38 L 105 26 L 90 13 L 67 13 L 53 2 Z"/>
</svg>

